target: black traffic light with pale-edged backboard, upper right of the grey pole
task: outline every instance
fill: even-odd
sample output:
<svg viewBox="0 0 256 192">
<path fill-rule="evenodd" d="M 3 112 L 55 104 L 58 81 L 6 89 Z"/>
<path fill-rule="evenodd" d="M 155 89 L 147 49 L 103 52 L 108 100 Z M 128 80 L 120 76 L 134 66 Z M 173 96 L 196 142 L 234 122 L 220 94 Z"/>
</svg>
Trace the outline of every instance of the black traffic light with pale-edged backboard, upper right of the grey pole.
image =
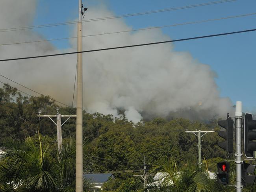
<svg viewBox="0 0 256 192">
<path fill-rule="evenodd" d="M 256 151 L 256 120 L 253 120 L 251 113 L 245 113 L 244 120 L 244 146 L 245 157 L 252 159 Z"/>
</svg>

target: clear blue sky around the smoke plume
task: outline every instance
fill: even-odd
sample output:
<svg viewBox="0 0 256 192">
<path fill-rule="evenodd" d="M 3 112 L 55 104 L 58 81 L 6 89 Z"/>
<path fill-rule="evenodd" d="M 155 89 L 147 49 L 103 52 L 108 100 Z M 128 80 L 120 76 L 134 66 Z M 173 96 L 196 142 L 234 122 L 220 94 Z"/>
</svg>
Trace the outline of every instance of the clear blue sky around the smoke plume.
<svg viewBox="0 0 256 192">
<path fill-rule="evenodd" d="M 90 14 L 90 7 L 104 5 L 115 15 L 125 15 L 129 13 L 203 4 L 213 1 L 214 0 L 84 0 L 83 4 L 85 7 L 89 8 L 86 14 Z M 73 21 L 77 20 L 78 17 L 78 0 L 39 0 L 37 7 L 34 25 Z M 133 29 L 138 29 L 255 13 L 255 7 L 255 0 L 236 0 L 209 6 L 126 17 L 123 18 L 123 20 L 128 26 L 131 26 Z M 250 30 L 256 28 L 255 21 L 256 15 L 252 15 L 248 17 L 163 28 L 162 31 L 171 39 L 182 39 L 216 33 Z M 70 37 L 70 27 L 71 26 L 58 26 L 51 28 L 51 30 L 49 30 L 49 28 L 39 28 L 36 31 L 43 34 L 46 39 L 54 39 Z M 99 33 L 102 32 L 104 31 L 99 31 Z M 70 46 L 69 42 L 65 40 L 54 41 L 52 43 L 59 49 L 65 49 Z M 175 42 L 174 50 L 189 52 L 193 58 L 200 63 L 210 65 L 211 69 L 216 73 L 215 81 L 219 86 L 221 96 L 230 97 L 234 104 L 236 101 L 242 101 L 243 111 L 252 111 L 255 113 L 255 43 L 256 32 L 254 31 L 207 39 Z"/>
</svg>

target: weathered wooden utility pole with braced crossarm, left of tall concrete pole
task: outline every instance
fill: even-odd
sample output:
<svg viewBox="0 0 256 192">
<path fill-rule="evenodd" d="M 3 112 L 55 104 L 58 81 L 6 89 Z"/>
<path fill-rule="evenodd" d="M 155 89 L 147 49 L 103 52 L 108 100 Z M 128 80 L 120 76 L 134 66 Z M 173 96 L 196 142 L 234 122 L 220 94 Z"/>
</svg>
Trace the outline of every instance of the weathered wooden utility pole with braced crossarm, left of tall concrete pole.
<svg viewBox="0 0 256 192">
<path fill-rule="evenodd" d="M 59 107 L 56 107 L 56 111 L 57 114 L 56 115 L 51 115 L 51 114 L 41 114 L 41 111 L 38 111 L 38 117 L 48 117 L 50 118 L 50 120 L 52 120 L 51 117 L 57 117 L 57 122 L 54 122 L 54 120 L 52 120 L 52 122 L 57 126 L 57 142 L 58 142 L 58 151 L 61 150 L 61 146 L 62 146 L 62 135 L 61 135 L 61 126 L 63 126 L 63 124 L 65 124 L 65 122 L 67 122 L 67 120 L 69 120 L 70 117 L 76 117 L 76 115 L 61 115 L 59 114 Z M 63 124 L 61 124 L 61 117 L 67 117 L 67 120 L 65 120 L 65 122 Z"/>
</svg>

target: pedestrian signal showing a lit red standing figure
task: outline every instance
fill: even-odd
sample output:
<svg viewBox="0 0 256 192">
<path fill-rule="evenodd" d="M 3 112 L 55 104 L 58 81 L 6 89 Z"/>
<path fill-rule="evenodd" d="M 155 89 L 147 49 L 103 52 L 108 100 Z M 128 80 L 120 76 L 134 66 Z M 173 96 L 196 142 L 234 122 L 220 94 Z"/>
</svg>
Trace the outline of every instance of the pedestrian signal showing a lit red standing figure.
<svg viewBox="0 0 256 192">
<path fill-rule="evenodd" d="M 229 183 L 229 162 L 217 163 L 217 180 L 222 185 Z"/>
</svg>

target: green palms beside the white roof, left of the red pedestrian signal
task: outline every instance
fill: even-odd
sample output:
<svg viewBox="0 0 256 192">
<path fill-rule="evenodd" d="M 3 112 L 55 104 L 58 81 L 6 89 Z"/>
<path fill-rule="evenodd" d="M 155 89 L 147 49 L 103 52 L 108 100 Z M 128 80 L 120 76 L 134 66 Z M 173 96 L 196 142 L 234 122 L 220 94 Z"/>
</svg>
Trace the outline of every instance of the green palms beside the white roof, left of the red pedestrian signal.
<svg viewBox="0 0 256 192">
<path fill-rule="evenodd" d="M 176 161 L 168 159 L 162 166 L 155 166 L 152 172 L 163 172 L 161 182 L 154 182 L 140 191 L 147 192 L 231 192 L 232 186 L 220 186 L 216 178 L 210 178 L 207 171 L 198 170 L 195 162 L 188 162 L 178 169 Z M 234 179 L 231 170 L 231 180 Z"/>
</svg>

